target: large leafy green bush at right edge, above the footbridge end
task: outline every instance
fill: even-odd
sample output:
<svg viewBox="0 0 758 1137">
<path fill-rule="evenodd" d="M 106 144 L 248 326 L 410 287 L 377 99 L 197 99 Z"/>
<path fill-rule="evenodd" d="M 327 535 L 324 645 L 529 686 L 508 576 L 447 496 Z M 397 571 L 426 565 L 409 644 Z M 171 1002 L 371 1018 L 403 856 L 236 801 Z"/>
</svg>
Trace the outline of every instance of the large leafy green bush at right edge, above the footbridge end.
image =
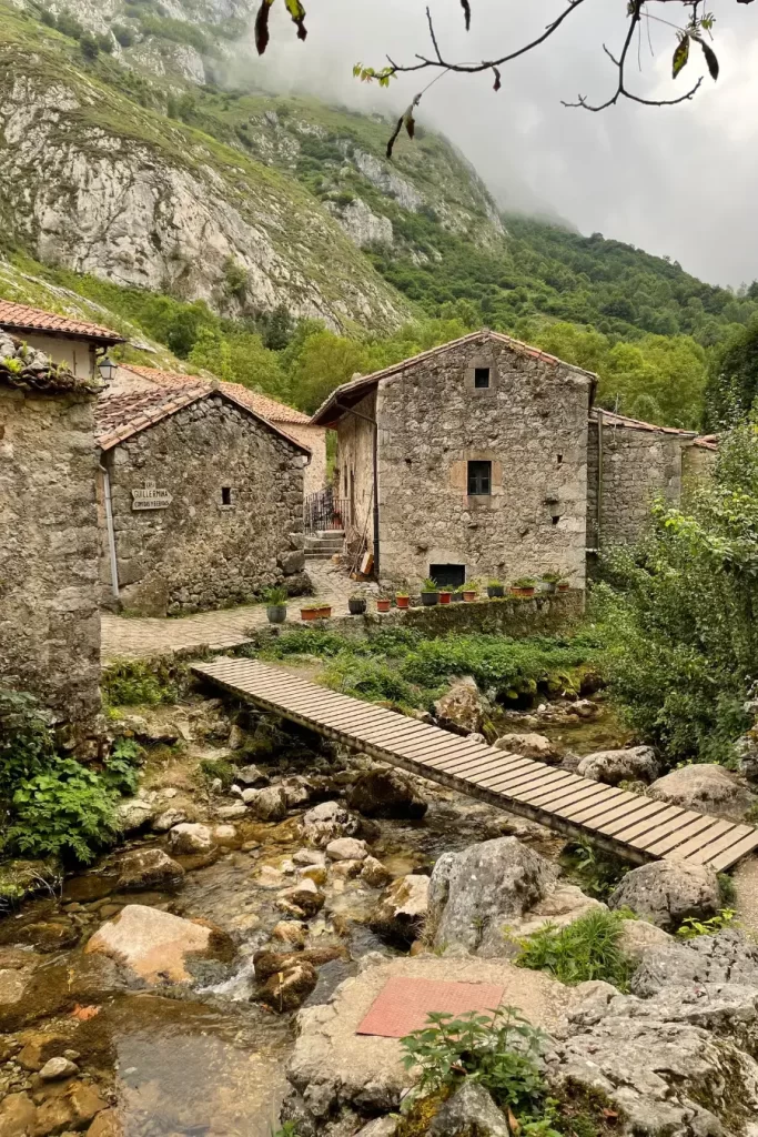
<svg viewBox="0 0 758 1137">
<path fill-rule="evenodd" d="M 725 435 L 713 480 L 658 501 L 595 590 L 611 694 L 669 762 L 730 763 L 758 680 L 758 429 Z"/>
</svg>

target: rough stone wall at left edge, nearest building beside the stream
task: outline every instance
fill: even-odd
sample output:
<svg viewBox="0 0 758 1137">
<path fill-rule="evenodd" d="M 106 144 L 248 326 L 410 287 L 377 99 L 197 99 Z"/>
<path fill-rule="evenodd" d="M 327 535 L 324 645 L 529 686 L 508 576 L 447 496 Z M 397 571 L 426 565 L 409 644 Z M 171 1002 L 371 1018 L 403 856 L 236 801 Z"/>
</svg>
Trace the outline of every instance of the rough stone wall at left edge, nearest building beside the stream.
<svg viewBox="0 0 758 1137">
<path fill-rule="evenodd" d="M 89 732 L 100 708 L 93 400 L 0 380 L 0 686 Z"/>
</svg>

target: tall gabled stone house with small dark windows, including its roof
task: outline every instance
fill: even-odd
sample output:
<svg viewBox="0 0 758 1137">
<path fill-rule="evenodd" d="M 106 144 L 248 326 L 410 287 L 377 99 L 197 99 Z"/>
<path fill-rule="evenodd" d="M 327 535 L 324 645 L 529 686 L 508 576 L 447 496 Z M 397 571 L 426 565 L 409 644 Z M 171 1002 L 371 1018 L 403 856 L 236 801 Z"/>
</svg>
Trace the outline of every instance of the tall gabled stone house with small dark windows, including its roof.
<svg viewBox="0 0 758 1137">
<path fill-rule="evenodd" d="M 338 432 L 349 540 L 388 586 L 556 571 L 582 587 L 594 385 L 484 331 L 338 388 L 314 422 Z"/>
</svg>

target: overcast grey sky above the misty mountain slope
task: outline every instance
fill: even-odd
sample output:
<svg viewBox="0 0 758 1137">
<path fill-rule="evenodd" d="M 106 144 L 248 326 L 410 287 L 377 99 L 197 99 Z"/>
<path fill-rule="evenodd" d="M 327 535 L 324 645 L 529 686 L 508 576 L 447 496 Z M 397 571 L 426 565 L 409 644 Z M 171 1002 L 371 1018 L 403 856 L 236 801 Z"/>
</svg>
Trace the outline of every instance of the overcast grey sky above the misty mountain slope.
<svg viewBox="0 0 758 1137">
<path fill-rule="evenodd" d="M 443 55 L 457 60 L 492 58 L 520 45 L 565 6 L 564 0 L 470 3 L 466 35 L 459 0 L 431 0 Z M 680 17 L 678 5 L 649 7 L 665 18 Z M 614 89 L 602 43 L 619 44 L 626 2 L 586 0 L 551 41 L 503 67 L 498 94 L 489 73 L 451 74 L 425 96 L 417 121 L 443 131 L 490 188 L 516 206 L 549 208 L 583 233 L 668 254 L 713 283 L 750 282 L 758 277 L 758 2 L 713 0 L 710 7 L 718 82 L 705 73 L 700 51 L 672 82 L 675 33 L 660 24 L 649 25 L 655 55 L 645 33 L 642 72 L 635 50 L 628 73 L 633 89 L 648 98 L 682 93 L 706 74 L 691 103 L 625 102 L 601 114 L 563 107 L 561 99 L 580 92 L 601 101 Z M 434 77 L 431 72 L 403 76 L 390 91 L 378 91 L 351 76 L 357 60 L 378 67 L 385 53 L 400 63 L 428 51 L 425 0 L 306 0 L 306 8 L 307 43 L 294 39 L 292 24 L 281 16 L 261 75 L 391 114 Z"/>
</svg>

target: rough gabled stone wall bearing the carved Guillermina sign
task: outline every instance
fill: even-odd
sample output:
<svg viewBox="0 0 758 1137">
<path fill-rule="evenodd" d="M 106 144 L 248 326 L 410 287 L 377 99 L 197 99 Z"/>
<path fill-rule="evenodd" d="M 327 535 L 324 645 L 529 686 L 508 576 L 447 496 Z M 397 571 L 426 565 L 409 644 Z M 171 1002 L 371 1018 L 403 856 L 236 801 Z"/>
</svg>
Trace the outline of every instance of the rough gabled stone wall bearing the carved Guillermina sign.
<svg viewBox="0 0 758 1137">
<path fill-rule="evenodd" d="M 307 586 L 305 455 L 223 396 L 164 418 L 106 458 L 124 609 L 174 615 L 245 603 L 281 582 L 292 592 Z M 168 508 L 132 508 L 132 490 L 145 481 L 168 490 Z M 108 603 L 105 541 L 102 582 Z"/>
</svg>

